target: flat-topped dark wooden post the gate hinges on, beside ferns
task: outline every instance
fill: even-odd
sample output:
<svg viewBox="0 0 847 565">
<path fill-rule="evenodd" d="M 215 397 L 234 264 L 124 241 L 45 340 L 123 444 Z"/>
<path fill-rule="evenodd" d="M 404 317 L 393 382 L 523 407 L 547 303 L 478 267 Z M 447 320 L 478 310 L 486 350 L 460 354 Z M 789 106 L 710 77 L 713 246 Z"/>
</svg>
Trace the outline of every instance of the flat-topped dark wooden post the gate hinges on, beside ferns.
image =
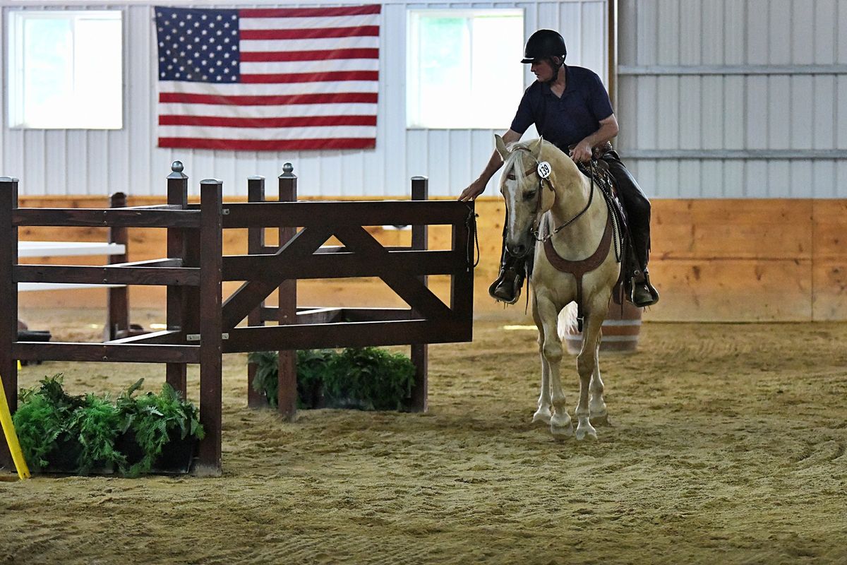
<svg viewBox="0 0 847 565">
<path fill-rule="evenodd" d="M 200 183 L 200 422 L 206 437 L 196 470 L 213 476 L 221 472 L 223 185 L 213 179 Z"/>
</svg>

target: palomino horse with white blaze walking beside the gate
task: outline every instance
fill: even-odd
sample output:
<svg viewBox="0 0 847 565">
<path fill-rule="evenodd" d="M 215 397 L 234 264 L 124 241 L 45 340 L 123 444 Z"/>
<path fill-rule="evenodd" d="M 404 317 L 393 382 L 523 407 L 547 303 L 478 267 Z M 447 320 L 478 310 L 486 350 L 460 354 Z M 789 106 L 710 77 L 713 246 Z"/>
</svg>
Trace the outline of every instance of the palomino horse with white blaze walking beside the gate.
<svg viewBox="0 0 847 565">
<path fill-rule="evenodd" d="M 564 329 L 559 331 L 558 320 L 562 308 L 577 302 L 583 344 L 577 357 L 576 438 L 596 439 L 591 420 L 606 423 L 598 357 L 601 324 L 620 274 L 620 242 L 610 245 L 617 230 L 600 189 L 556 146 L 541 139 L 509 147 L 500 136 L 495 141 L 504 162 L 500 190 L 506 199 L 507 249 L 522 257 L 534 238 L 543 242 L 535 246 L 530 276 L 541 356 L 541 396 L 533 422 L 550 424 L 555 435 L 573 434 L 559 375 Z"/>
</svg>

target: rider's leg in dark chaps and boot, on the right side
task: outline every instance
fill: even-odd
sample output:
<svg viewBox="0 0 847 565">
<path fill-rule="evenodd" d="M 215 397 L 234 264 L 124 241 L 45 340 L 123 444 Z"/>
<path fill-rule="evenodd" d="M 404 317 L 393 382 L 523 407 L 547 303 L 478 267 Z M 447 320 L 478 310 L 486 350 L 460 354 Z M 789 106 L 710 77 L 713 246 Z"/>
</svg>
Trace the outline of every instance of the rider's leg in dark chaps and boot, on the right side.
<svg viewBox="0 0 847 565">
<path fill-rule="evenodd" d="M 638 262 L 634 272 L 628 274 L 632 282 L 632 294 L 629 299 L 635 306 L 650 306 L 659 302 L 659 293 L 650 285 L 650 274 L 647 271 L 647 263 L 650 260 L 650 200 L 645 197 L 633 175 L 621 163 L 617 152 L 606 152 L 602 158 L 609 165 L 609 172 L 617 183 L 617 195 L 627 210 L 629 235 Z"/>
</svg>

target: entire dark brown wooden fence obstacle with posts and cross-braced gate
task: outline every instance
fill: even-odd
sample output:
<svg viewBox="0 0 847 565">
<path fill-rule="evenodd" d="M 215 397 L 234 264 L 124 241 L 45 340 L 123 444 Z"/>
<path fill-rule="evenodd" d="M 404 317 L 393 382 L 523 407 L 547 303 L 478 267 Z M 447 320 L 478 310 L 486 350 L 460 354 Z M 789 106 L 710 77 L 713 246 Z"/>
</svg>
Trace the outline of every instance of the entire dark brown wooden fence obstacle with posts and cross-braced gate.
<svg viewBox="0 0 847 565">
<path fill-rule="evenodd" d="M 296 195 L 289 163 L 280 194 Z M 418 193 L 426 179 L 412 180 Z M 263 179 L 248 181 L 256 202 L 223 202 L 223 183 L 202 180 L 200 203 L 188 202 L 188 177 L 174 162 L 168 202 L 124 208 L 18 208 L 18 180 L 0 177 L 0 374 L 10 410 L 17 407 L 16 361 L 165 363 L 166 380 L 185 393 L 185 366 L 200 366 L 200 443 L 196 474 L 221 471 L 222 355 L 280 351 L 280 412 L 294 413 L 296 384 L 290 360 L 297 349 L 412 344 L 418 369 L 426 366 L 425 344 L 471 341 L 473 333 L 473 206 L 457 201 L 267 202 Z M 261 201 L 261 202 L 260 202 Z M 412 246 L 385 247 L 367 226 L 414 226 Z M 449 250 L 426 249 L 426 226 L 451 225 Z M 167 257 L 104 266 L 18 264 L 20 226 L 164 228 Z M 248 252 L 223 255 L 223 230 L 247 229 Z M 263 230 L 280 230 L 278 246 L 266 246 Z M 297 230 L 299 228 L 299 230 Z M 323 247 L 335 236 L 343 246 Z M 427 275 L 451 277 L 449 304 L 429 290 Z M 275 290 L 291 290 L 299 279 L 379 277 L 408 308 L 311 308 L 295 300 L 276 308 L 263 301 Z M 243 281 L 223 300 L 223 281 Z M 166 285 L 167 330 L 103 343 L 17 341 L 19 282 L 102 285 Z M 247 319 L 246 326 L 236 327 Z M 278 325 L 264 326 L 271 319 Z M 255 324 L 255 325 L 254 325 Z M 417 353 L 414 347 L 417 347 Z M 425 373 L 424 373 L 425 374 Z M 285 389 L 285 392 L 282 392 Z M 426 382 L 418 383 L 416 406 L 426 407 Z M 0 452 L 0 463 L 10 463 Z"/>
</svg>

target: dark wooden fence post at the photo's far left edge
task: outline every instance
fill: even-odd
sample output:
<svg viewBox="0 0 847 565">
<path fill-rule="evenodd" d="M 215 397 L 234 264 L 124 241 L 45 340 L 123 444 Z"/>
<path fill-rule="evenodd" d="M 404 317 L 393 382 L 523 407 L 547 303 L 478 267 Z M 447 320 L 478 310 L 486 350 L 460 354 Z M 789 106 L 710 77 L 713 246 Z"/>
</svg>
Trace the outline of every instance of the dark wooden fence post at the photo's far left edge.
<svg viewBox="0 0 847 565">
<path fill-rule="evenodd" d="M 0 177 L 0 377 L 9 413 L 18 408 L 18 363 L 12 344 L 18 341 L 18 289 L 14 265 L 18 263 L 18 228 L 12 216 L 18 208 L 18 180 Z M 14 468 L 5 440 L 0 440 L 0 467 Z"/>
</svg>

